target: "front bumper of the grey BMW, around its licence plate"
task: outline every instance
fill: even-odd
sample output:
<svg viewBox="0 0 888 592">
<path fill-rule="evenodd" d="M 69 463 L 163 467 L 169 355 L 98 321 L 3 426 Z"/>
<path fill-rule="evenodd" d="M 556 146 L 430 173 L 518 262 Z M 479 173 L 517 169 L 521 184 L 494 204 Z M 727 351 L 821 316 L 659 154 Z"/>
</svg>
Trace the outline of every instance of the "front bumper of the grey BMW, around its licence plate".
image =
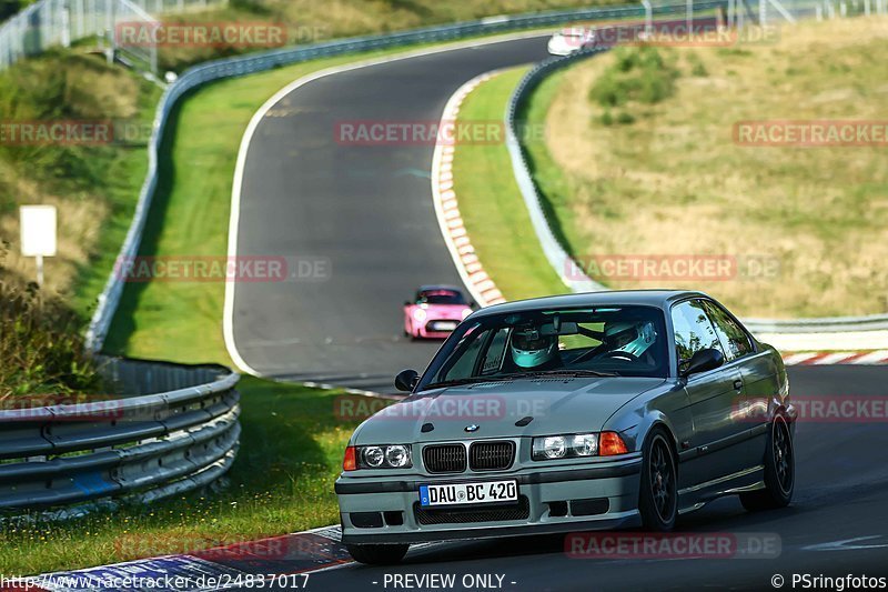
<svg viewBox="0 0 888 592">
<path fill-rule="evenodd" d="M 342 540 L 351 544 L 418 543 L 635 526 L 640 523 L 637 510 L 640 465 L 640 458 L 633 455 L 617 462 L 569 468 L 522 468 L 446 476 L 342 475 L 335 485 Z M 428 512 L 416 509 L 421 484 L 508 479 L 518 483 L 521 508 L 524 510 L 526 505 L 526 515 L 516 518 L 517 504 L 477 504 L 436 509 L 435 523 L 428 523 Z M 376 513 L 379 519 L 367 520 Z"/>
</svg>

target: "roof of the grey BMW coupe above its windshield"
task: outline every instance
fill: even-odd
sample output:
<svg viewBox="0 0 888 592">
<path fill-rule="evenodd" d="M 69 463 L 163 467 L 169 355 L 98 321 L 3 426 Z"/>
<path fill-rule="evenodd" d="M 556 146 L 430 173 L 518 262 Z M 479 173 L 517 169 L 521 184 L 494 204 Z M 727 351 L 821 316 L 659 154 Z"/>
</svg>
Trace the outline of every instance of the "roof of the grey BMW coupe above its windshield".
<svg viewBox="0 0 888 592">
<path fill-rule="evenodd" d="M 709 298 L 703 292 L 687 290 L 607 290 L 576 294 L 552 295 L 515 300 L 494 304 L 477 311 L 473 317 L 523 312 L 535 309 L 569 309 L 577 307 L 656 307 L 667 309 L 676 300 L 688 297 Z"/>
</svg>

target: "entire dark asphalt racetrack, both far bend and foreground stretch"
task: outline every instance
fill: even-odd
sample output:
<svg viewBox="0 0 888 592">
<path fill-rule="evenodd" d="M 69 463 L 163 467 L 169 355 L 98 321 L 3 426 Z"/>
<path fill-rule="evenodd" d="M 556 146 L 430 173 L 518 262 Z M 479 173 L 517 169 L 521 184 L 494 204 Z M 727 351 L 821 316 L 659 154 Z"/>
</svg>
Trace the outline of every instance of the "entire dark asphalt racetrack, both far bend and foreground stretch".
<svg viewBox="0 0 888 592">
<path fill-rule="evenodd" d="M 433 146 L 350 146 L 337 141 L 337 124 L 437 121 L 462 83 L 543 59 L 545 44 L 531 38 L 362 68 L 309 82 L 274 106 L 249 147 L 238 254 L 317 258 L 330 274 L 234 284 L 234 340 L 253 369 L 391 391 L 397 370 L 425 367 L 438 343 L 402 337 L 401 305 L 422 283 L 461 283 L 432 205 Z M 886 378 L 885 367 L 790 369 L 800 399 L 884 402 Z M 307 589 L 431 590 L 391 576 L 455 574 L 463 590 L 465 574 L 487 574 L 495 585 L 472 589 L 801 590 L 794 573 L 888 575 L 886 435 L 884 418 L 803 419 L 790 508 L 751 514 L 727 498 L 679 519 L 678 531 L 776 535 L 773 559 L 571 559 L 564 536 L 531 536 L 423 545 L 398 566 L 313 573 Z M 818 588 L 838 589 L 807 589 Z"/>
</svg>

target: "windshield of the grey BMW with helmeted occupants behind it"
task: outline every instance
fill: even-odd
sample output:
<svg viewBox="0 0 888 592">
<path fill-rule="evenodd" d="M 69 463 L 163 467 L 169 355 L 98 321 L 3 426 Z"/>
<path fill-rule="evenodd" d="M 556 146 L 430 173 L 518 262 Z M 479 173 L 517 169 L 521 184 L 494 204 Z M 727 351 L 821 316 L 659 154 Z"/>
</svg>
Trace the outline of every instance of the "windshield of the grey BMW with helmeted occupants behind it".
<svg viewBox="0 0 888 592">
<path fill-rule="evenodd" d="M 608 307 L 482 318 L 451 335 L 418 388 L 546 374 L 667 377 L 663 312 Z"/>
</svg>

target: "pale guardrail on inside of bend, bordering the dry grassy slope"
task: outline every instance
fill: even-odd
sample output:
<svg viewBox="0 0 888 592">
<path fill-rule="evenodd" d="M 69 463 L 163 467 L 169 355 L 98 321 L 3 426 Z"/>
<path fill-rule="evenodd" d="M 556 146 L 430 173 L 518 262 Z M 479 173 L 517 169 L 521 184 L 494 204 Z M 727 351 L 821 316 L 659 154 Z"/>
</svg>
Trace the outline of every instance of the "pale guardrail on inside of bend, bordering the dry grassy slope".
<svg viewBox="0 0 888 592">
<path fill-rule="evenodd" d="M 796 2 L 795 17 L 815 14 L 813 6 L 821 2 Z M 861 11 L 862 13 L 862 11 Z M 869 13 L 867 10 L 866 13 Z M 506 147 L 513 172 L 531 221 L 546 259 L 565 285 L 574 292 L 603 291 L 607 287 L 585 273 L 583 265 L 568 254 L 558 241 L 546 215 L 539 189 L 533 179 L 526 153 L 518 138 L 517 114 L 531 92 L 549 74 L 575 61 L 592 58 L 608 48 L 593 47 L 566 57 L 554 57 L 531 69 L 512 93 L 506 109 Z M 569 265 L 574 261 L 576 264 Z M 571 270 L 568 273 L 567 270 Z M 888 314 L 869 317 L 835 317 L 821 319 L 744 319 L 756 337 L 785 351 L 806 350 L 878 350 L 888 348 Z"/>
</svg>

